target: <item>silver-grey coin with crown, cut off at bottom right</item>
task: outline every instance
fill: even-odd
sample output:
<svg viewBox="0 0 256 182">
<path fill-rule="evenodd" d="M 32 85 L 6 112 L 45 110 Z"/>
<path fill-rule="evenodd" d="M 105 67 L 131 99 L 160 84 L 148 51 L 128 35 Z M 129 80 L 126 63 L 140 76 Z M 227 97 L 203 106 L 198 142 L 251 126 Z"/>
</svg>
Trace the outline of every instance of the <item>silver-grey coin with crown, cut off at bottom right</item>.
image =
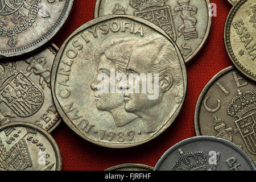
<svg viewBox="0 0 256 182">
<path fill-rule="evenodd" d="M 167 150 L 154 171 L 256 171 L 236 144 L 217 137 L 185 139 Z"/>
</svg>

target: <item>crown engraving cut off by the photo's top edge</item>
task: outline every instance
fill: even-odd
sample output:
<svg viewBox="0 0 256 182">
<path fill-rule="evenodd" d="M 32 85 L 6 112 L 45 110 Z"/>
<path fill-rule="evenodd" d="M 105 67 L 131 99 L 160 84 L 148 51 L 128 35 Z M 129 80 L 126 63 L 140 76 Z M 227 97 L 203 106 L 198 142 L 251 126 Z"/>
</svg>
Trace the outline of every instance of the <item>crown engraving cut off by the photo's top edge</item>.
<svg viewBox="0 0 256 182">
<path fill-rule="evenodd" d="M 131 0 L 130 5 L 142 11 L 151 6 L 164 6 L 165 2 L 167 2 L 167 0 Z"/>
</svg>

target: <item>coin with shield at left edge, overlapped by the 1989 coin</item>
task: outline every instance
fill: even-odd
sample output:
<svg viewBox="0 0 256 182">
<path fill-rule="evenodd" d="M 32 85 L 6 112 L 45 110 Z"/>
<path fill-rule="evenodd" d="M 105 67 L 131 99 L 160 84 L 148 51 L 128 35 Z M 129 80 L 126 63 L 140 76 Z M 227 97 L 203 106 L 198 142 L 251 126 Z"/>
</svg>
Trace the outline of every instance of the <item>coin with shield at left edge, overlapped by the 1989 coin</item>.
<svg viewBox="0 0 256 182">
<path fill-rule="evenodd" d="M 51 94 L 52 44 L 24 60 L 0 62 L 0 126 L 30 122 L 51 132 L 60 123 Z"/>
</svg>

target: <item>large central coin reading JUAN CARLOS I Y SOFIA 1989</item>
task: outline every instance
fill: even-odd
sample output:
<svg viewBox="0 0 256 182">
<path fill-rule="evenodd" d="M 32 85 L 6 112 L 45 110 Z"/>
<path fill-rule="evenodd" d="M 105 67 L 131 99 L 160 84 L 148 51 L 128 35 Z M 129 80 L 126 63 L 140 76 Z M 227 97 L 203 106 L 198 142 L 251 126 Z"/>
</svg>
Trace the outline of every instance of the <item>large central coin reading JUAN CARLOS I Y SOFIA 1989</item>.
<svg viewBox="0 0 256 182">
<path fill-rule="evenodd" d="M 51 80 L 65 123 L 110 148 L 157 137 L 176 118 L 187 89 L 176 44 L 154 24 L 124 15 L 97 18 L 73 32 L 57 53 Z"/>
</svg>

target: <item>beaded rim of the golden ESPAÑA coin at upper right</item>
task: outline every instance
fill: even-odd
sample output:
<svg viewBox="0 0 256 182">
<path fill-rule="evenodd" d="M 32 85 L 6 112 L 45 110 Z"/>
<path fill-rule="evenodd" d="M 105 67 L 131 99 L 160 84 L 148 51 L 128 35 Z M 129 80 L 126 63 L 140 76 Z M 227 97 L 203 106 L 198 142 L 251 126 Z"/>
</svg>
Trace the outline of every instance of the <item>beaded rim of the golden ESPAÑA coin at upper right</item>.
<svg viewBox="0 0 256 182">
<path fill-rule="evenodd" d="M 245 69 L 243 70 L 243 65 L 240 63 L 240 61 L 237 59 L 236 56 L 234 56 L 234 52 L 233 52 L 233 49 L 231 47 L 231 44 L 230 44 L 230 27 L 231 27 L 231 23 L 237 13 L 237 11 L 240 9 L 240 7 L 245 3 L 247 2 L 248 0 L 240 0 L 238 1 L 233 7 L 232 9 L 230 10 L 229 12 L 229 15 L 228 17 L 226 18 L 226 22 L 225 22 L 225 28 L 224 28 L 224 43 L 225 43 L 225 47 L 226 47 L 226 52 L 228 53 L 229 57 L 230 57 L 230 60 L 232 60 L 234 66 L 243 74 L 245 75 L 247 78 L 250 78 L 250 80 L 253 80 L 253 81 L 256 81 L 256 73 L 253 75 L 254 76 L 251 76 L 249 73 L 246 73 L 247 72 L 251 72 L 250 70 L 248 69 Z M 229 43 L 228 43 L 229 42 Z M 232 55 L 233 54 L 233 55 Z M 232 57 L 234 56 L 234 57 Z M 238 65 L 240 64 L 240 65 Z"/>
</svg>

